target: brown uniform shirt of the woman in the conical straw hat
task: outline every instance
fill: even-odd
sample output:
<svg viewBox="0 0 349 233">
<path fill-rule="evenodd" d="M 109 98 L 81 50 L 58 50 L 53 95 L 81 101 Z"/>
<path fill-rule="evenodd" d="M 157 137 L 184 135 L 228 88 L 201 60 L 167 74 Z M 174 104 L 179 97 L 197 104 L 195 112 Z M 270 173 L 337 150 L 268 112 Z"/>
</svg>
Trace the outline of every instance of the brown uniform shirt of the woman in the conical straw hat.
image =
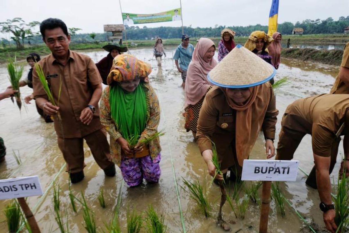
<svg viewBox="0 0 349 233">
<path fill-rule="evenodd" d="M 265 111 L 253 114 L 252 124 L 259 124 L 259 118 L 262 117 L 263 123 L 258 126 L 258 132 L 260 129 L 263 129 L 266 138 L 275 138 L 276 117 L 279 111 L 276 110 L 274 92 L 269 83 L 261 85 L 259 92 L 264 93 L 263 98 L 265 100 L 261 101 L 260 98 L 256 98 L 258 102 L 256 105 L 261 105 L 262 102 L 265 102 Z M 215 143 L 222 170 L 238 165 L 235 147 L 236 124 L 239 124 L 239 122 L 236 122 L 236 110 L 229 107 L 222 90 L 218 87 L 213 87 L 206 94 L 200 109 L 196 140 L 200 153 L 212 149 L 210 140 Z"/>
</svg>

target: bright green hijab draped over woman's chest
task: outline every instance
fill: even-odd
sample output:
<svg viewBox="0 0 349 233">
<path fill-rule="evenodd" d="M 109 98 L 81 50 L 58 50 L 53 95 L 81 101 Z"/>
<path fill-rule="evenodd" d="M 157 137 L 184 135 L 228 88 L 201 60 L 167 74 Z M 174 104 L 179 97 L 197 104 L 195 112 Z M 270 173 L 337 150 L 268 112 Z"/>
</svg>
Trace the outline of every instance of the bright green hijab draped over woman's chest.
<svg viewBox="0 0 349 233">
<path fill-rule="evenodd" d="M 139 138 L 146 127 L 147 103 L 144 84 L 140 83 L 133 92 L 126 92 L 118 83 L 109 87 L 111 117 L 119 126 L 123 138 Z"/>
</svg>

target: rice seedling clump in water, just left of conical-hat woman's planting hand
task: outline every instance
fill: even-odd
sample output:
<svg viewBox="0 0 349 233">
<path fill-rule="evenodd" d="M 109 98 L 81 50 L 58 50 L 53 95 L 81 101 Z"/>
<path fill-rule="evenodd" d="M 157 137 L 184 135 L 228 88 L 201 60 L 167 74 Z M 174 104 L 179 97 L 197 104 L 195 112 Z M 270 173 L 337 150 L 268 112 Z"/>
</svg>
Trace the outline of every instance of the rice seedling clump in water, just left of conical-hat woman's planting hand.
<svg viewBox="0 0 349 233">
<path fill-rule="evenodd" d="M 208 218 L 210 216 L 209 211 L 211 210 L 210 205 L 208 203 L 206 195 L 203 193 L 202 186 L 200 185 L 200 182 L 198 179 L 196 181 L 190 182 L 187 181 L 182 177 L 183 183 L 188 188 L 189 191 L 187 191 L 184 187 L 181 186 L 181 188 L 189 194 L 189 197 L 193 199 L 202 209 L 203 213 L 205 214 L 205 217 Z"/>
</svg>

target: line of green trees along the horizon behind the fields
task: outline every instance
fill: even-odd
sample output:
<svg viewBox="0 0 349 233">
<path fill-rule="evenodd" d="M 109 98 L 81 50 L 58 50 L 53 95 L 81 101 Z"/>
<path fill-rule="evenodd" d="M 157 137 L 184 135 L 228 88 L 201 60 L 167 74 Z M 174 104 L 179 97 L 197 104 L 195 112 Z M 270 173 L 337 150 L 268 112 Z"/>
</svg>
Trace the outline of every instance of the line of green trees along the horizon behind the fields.
<svg viewBox="0 0 349 233">
<path fill-rule="evenodd" d="M 34 29 L 40 24 L 38 21 L 25 23 L 23 19 L 16 17 L 6 22 L 0 22 L 0 31 L 9 32 L 11 34 L 11 40 L 1 38 L 0 43 L 2 47 L 8 44 L 16 44 L 17 49 L 23 49 L 24 44 L 40 44 L 42 43 L 41 36 L 38 31 Z M 125 26 L 127 39 L 143 40 L 145 38 L 162 37 L 162 38 L 180 38 L 182 35 L 181 27 L 157 27 L 147 28 L 146 26 L 139 27 L 141 24 L 135 24 L 135 26 Z M 277 30 L 283 35 L 289 35 L 292 33 L 293 28 L 303 28 L 304 34 L 334 34 L 343 33 L 344 28 L 349 26 L 349 16 L 341 16 L 337 21 L 332 17 L 326 20 L 303 20 L 297 21 L 295 24 L 291 22 L 279 23 Z M 101 26 L 102 27 L 102 26 Z M 184 33 L 191 37 L 220 37 L 221 31 L 227 26 L 215 25 L 215 27 L 209 28 L 192 28 L 184 27 Z M 252 31 L 261 30 L 268 31 L 268 26 L 256 24 L 250 26 L 232 26 L 228 28 L 234 30 L 237 36 L 248 36 Z M 106 33 L 84 33 L 77 34 L 76 32 L 81 30 L 80 28 L 69 28 L 69 33 L 72 36 L 72 42 L 75 43 L 98 43 L 105 42 L 107 38 Z M 124 34 L 125 37 L 125 34 Z M 124 38 L 125 39 L 125 38 Z"/>
</svg>

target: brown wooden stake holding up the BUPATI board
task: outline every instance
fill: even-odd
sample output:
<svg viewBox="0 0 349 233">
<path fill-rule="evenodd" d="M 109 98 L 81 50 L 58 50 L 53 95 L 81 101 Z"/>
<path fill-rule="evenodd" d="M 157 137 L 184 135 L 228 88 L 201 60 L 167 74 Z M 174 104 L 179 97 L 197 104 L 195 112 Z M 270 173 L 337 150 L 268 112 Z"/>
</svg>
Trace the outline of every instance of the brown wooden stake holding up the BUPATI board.
<svg viewBox="0 0 349 233">
<path fill-rule="evenodd" d="M 261 208 L 261 216 L 260 216 L 260 220 L 259 220 L 259 233 L 267 233 L 268 232 L 271 184 L 272 184 L 271 181 L 263 181 L 262 208 Z"/>
</svg>

